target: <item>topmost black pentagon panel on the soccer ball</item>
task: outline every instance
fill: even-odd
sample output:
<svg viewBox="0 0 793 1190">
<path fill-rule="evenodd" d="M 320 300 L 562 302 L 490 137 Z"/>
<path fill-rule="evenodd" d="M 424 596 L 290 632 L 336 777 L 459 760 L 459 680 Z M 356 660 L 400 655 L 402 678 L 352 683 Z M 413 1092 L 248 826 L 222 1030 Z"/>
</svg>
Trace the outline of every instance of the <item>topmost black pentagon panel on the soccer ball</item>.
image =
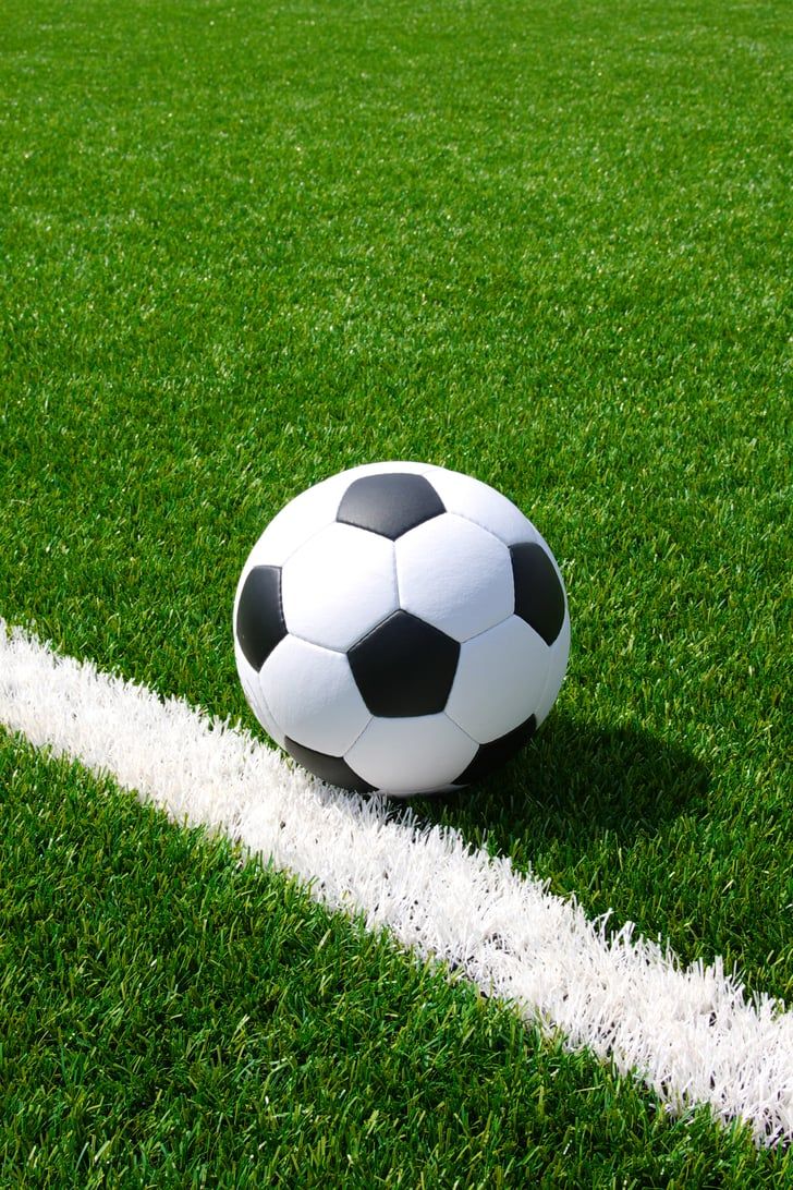
<svg viewBox="0 0 793 1190">
<path fill-rule="evenodd" d="M 396 541 L 409 528 L 445 512 L 441 497 L 423 475 L 392 471 L 354 480 L 339 505 L 336 520 Z"/>
</svg>

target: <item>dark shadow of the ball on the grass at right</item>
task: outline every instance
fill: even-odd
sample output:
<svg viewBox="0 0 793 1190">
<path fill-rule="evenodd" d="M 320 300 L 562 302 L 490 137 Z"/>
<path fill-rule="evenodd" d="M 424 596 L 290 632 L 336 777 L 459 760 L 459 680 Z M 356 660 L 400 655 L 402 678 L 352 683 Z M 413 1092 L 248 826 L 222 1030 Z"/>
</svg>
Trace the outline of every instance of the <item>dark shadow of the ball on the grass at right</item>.
<svg viewBox="0 0 793 1190">
<path fill-rule="evenodd" d="M 477 785 L 416 800 L 426 822 L 459 827 L 499 851 L 524 841 L 525 857 L 553 844 L 580 846 L 609 832 L 618 843 L 653 833 L 707 791 L 707 768 L 691 752 L 632 727 L 603 728 L 552 713 L 537 735 Z"/>
</svg>

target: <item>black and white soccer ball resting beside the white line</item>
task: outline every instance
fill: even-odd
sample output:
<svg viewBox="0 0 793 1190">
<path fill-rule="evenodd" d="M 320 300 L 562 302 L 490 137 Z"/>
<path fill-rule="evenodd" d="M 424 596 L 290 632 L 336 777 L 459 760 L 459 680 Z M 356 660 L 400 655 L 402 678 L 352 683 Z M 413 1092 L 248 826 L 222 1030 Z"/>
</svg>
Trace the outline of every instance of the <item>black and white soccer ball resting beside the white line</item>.
<svg viewBox="0 0 793 1190">
<path fill-rule="evenodd" d="M 237 666 L 266 732 L 334 785 L 409 796 L 508 759 L 559 693 L 556 562 L 493 488 L 375 463 L 296 496 L 234 600 Z"/>
</svg>

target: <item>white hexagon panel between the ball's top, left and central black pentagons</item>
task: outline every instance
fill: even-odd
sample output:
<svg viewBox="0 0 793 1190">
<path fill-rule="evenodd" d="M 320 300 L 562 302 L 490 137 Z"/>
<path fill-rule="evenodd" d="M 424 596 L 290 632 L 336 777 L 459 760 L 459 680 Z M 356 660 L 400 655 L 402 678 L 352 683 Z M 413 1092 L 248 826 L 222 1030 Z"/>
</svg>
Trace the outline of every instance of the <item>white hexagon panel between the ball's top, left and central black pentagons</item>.
<svg viewBox="0 0 793 1190">
<path fill-rule="evenodd" d="M 283 566 L 287 630 L 315 645 L 350 649 L 398 606 L 392 543 L 352 525 L 328 525 Z"/>
</svg>

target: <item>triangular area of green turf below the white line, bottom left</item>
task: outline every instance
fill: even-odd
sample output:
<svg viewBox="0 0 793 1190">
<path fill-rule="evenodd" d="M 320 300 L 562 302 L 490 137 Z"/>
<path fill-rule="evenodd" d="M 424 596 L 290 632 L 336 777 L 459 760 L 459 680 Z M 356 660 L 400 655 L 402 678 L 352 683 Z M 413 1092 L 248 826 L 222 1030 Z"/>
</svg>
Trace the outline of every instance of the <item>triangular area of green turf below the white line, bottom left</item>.
<svg viewBox="0 0 793 1190">
<path fill-rule="evenodd" d="M 405 962 L 227 844 L 0 749 L 1 1176 L 25 1185 L 772 1185 L 706 1113 Z M 618 1175 L 617 1175 L 618 1171 Z"/>
</svg>

